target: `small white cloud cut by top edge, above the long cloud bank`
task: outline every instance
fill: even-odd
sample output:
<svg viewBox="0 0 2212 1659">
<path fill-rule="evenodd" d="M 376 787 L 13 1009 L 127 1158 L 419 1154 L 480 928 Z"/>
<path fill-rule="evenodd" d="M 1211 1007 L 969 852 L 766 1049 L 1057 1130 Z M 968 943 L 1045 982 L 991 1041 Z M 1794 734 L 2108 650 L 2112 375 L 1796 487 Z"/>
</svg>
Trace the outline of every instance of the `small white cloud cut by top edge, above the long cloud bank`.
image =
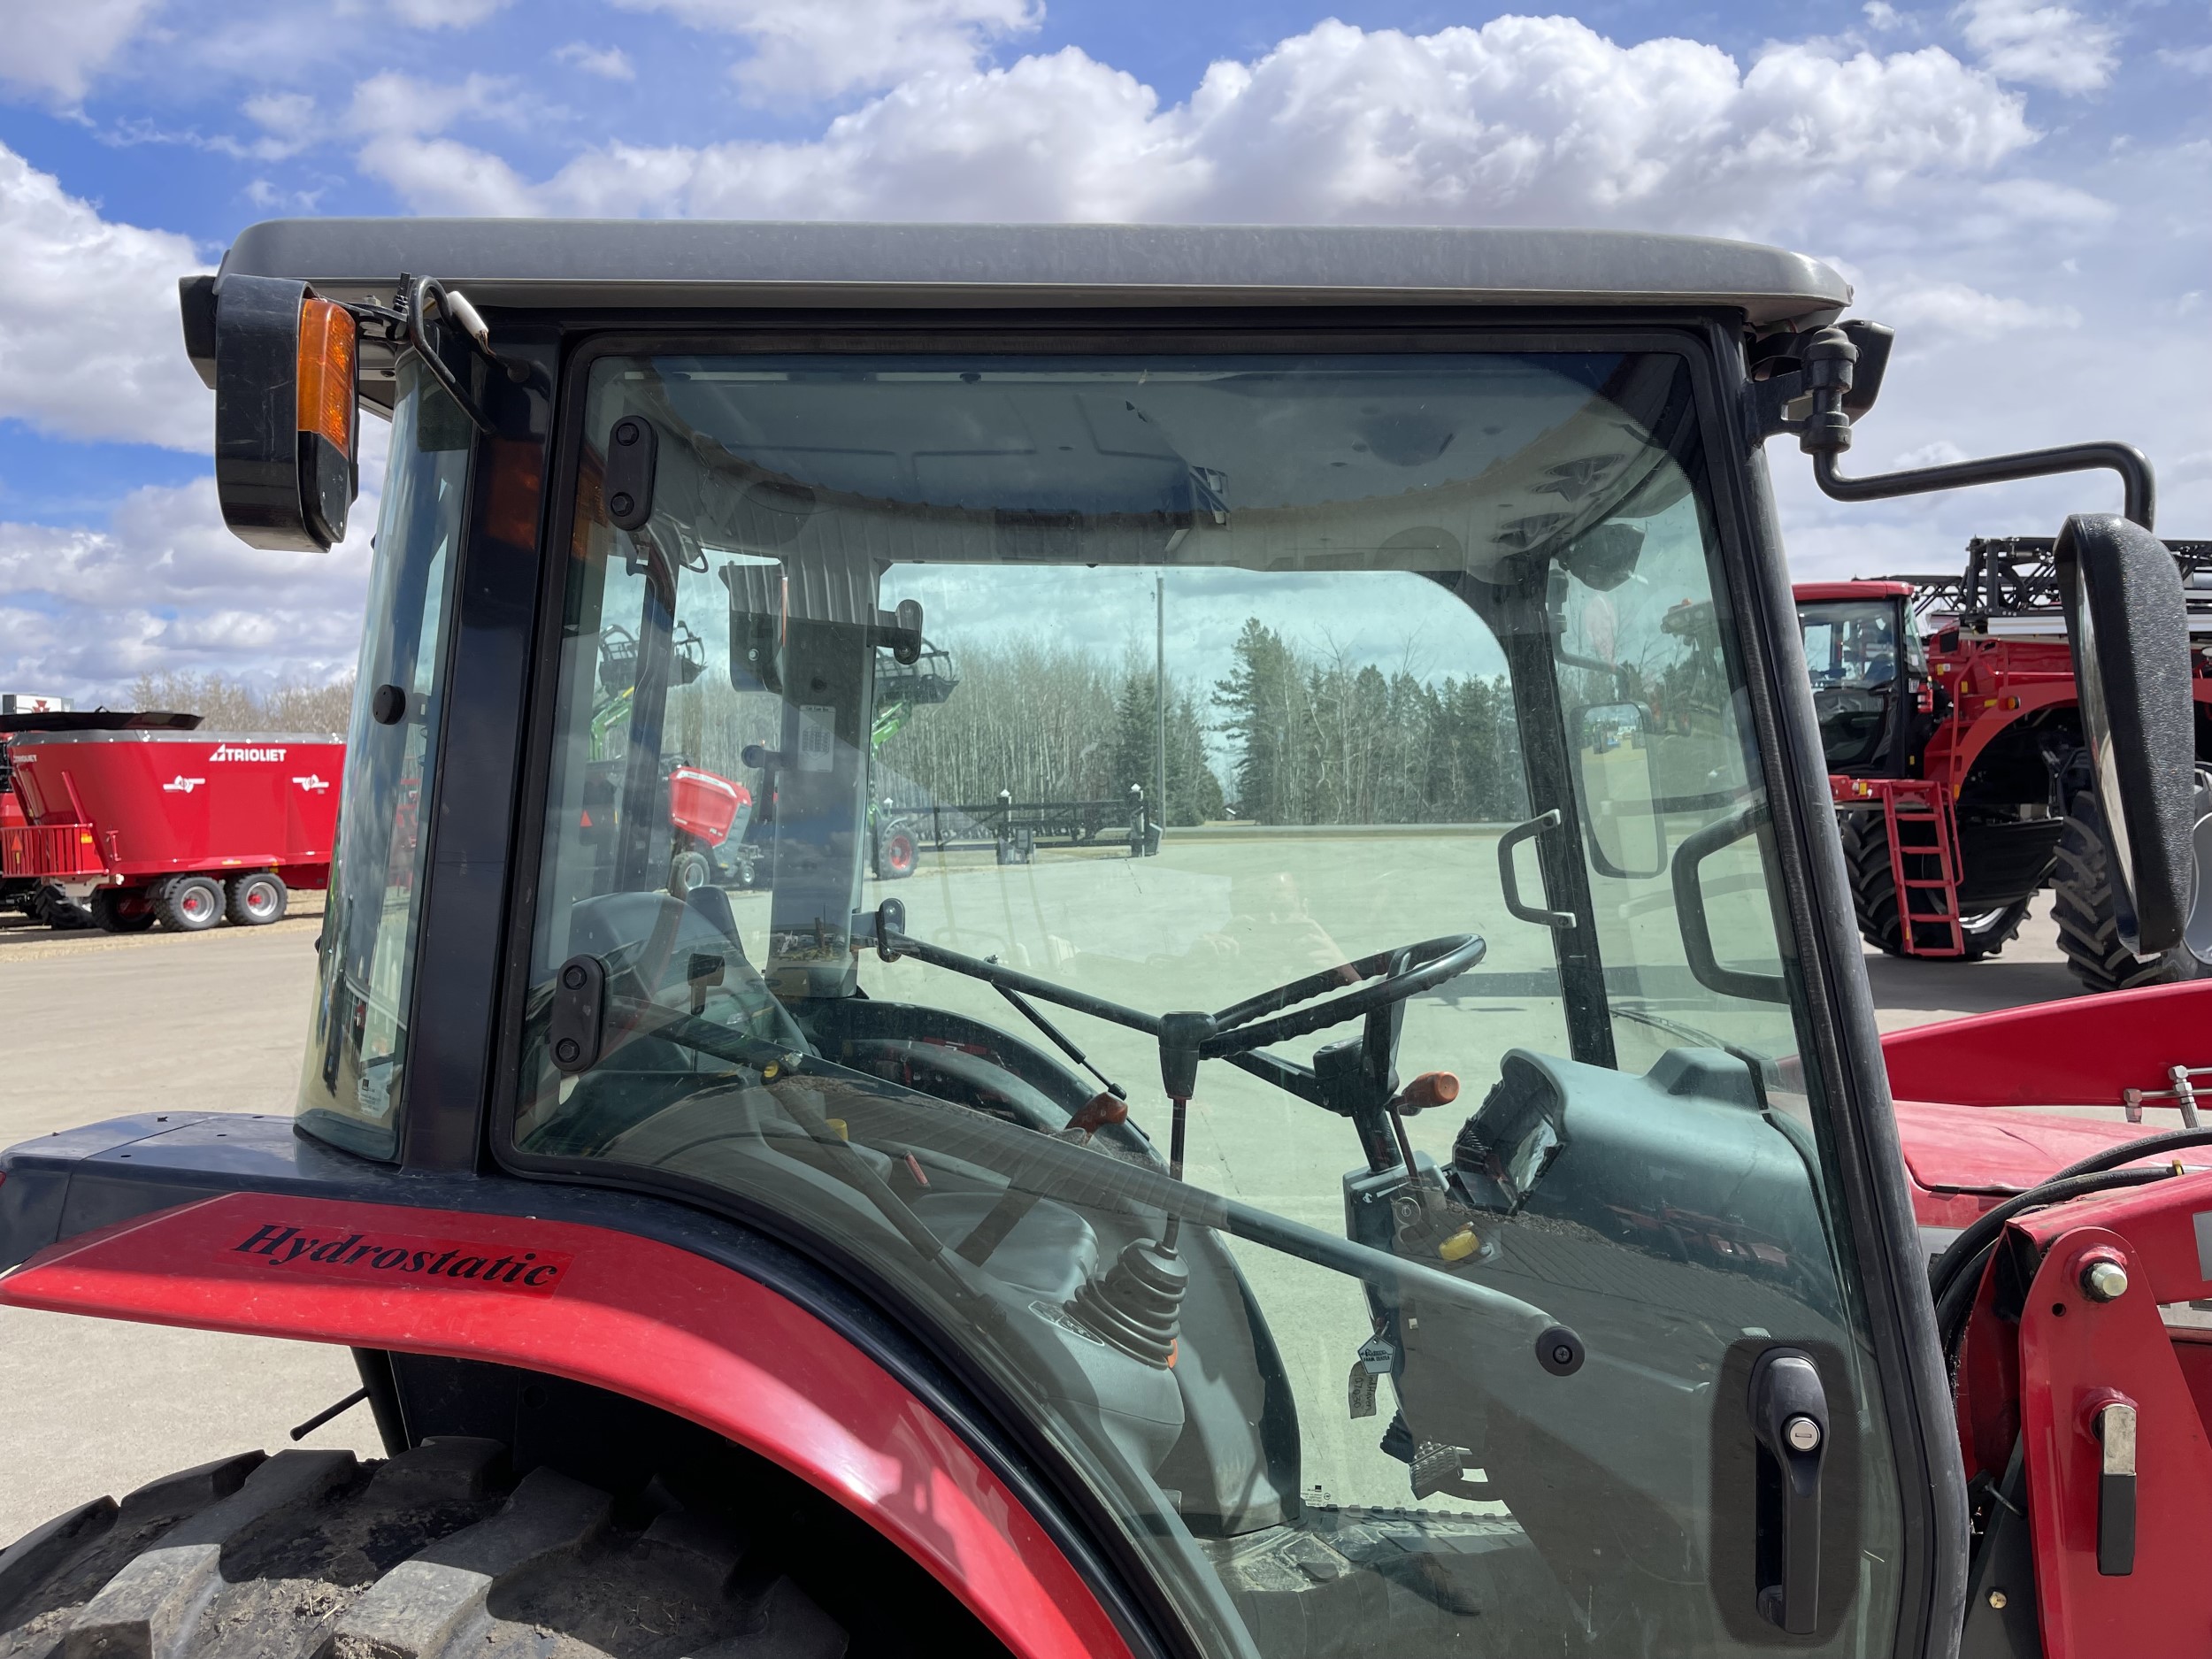
<svg viewBox="0 0 2212 1659">
<path fill-rule="evenodd" d="M 969 69 L 984 46 L 1031 33 L 1042 0 L 615 0 L 666 11 L 692 29 L 739 35 L 752 55 L 734 66 L 763 102 L 836 97 Z"/>
</svg>

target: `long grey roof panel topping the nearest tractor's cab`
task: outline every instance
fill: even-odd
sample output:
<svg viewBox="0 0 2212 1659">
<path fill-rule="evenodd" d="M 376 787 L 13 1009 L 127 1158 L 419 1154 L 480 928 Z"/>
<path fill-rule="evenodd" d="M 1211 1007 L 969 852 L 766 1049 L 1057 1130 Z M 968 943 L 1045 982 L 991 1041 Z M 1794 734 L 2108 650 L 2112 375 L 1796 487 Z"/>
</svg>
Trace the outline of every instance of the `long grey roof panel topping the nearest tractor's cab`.
<svg viewBox="0 0 2212 1659">
<path fill-rule="evenodd" d="M 951 226 L 728 219 L 268 219 L 223 270 L 478 305 L 1723 305 L 1752 323 L 1851 301 L 1781 248 L 1639 230 Z"/>
</svg>

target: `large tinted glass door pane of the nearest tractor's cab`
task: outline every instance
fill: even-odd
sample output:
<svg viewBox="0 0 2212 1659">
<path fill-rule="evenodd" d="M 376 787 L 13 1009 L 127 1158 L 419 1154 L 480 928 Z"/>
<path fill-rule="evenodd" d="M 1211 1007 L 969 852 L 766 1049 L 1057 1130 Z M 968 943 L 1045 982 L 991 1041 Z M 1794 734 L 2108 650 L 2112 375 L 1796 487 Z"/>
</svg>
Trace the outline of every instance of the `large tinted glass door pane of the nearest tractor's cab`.
<svg viewBox="0 0 2212 1659">
<path fill-rule="evenodd" d="M 597 361 L 511 1157 L 876 1285 L 1217 1652 L 1761 1646 L 1794 1343 L 1858 1460 L 1818 1635 L 1887 1630 L 1692 407 Z"/>
</svg>

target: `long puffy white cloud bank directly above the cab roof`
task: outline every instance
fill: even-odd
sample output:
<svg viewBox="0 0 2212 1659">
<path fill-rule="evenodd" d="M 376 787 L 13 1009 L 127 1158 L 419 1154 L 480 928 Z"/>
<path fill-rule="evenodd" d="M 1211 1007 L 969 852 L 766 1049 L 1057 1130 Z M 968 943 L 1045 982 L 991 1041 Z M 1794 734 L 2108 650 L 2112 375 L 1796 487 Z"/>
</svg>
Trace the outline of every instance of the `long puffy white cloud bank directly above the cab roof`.
<svg viewBox="0 0 2212 1659">
<path fill-rule="evenodd" d="M 807 142 L 608 144 L 544 181 L 460 146 L 378 146 L 363 166 L 429 212 L 1730 232 L 1832 184 L 1882 197 L 1982 173 L 2033 137 L 2015 93 L 1933 46 L 1774 46 L 1741 69 L 1690 40 L 1619 46 L 1571 18 L 1500 18 L 1433 35 L 1325 22 L 1212 64 L 1175 108 L 1068 46 L 914 75 Z"/>
</svg>

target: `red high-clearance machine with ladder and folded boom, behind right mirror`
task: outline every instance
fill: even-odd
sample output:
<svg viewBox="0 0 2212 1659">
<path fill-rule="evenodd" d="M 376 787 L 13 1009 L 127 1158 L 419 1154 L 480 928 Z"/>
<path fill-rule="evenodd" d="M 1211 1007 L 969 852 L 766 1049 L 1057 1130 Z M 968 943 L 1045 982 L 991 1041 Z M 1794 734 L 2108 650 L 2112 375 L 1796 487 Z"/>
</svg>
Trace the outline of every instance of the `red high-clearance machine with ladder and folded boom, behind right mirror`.
<svg viewBox="0 0 2212 1659">
<path fill-rule="evenodd" d="M 2168 542 L 2190 615 L 2192 754 L 2212 765 L 2212 542 Z M 1798 582 L 1829 787 L 1860 936 L 1891 956 L 1980 960 L 2057 889 L 2066 964 L 2093 991 L 2203 973 L 2192 940 L 2124 945 L 2124 896 L 2090 790 L 2051 538 L 1975 538 L 1964 577 Z M 2212 787 L 2194 818 L 2212 854 Z"/>
</svg>

